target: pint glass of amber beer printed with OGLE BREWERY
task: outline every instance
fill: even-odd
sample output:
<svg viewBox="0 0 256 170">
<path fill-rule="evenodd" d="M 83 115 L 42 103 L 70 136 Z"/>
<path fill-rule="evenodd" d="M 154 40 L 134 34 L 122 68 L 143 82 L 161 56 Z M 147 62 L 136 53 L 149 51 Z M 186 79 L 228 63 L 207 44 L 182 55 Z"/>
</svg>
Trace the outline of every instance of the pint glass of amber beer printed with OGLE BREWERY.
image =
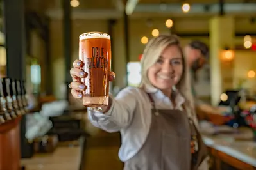
<svg viewBox="0 0 256 170">
<path fill-rule="evenodd" d="M 106 33 L 90 32 L 79 36 L 79 59 L 88 76 L 81 79 L 87 86 L 83 91 L 85 107 L 108 105 L 108 75 L 111 66 L 110 36 Z"/>
</svg>

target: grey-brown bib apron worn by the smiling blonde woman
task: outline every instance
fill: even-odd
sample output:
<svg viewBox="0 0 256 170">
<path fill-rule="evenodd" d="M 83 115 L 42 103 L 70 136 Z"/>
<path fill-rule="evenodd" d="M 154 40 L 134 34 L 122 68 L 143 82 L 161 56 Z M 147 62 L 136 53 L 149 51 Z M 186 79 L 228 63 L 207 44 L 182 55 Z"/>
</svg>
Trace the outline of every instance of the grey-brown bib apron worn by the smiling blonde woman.
<svg viewBox="0 0 256 170">
<path fill-rule="evenodd" d="M 191 128 L 194 124 L 190 125 L 186 112 L 156 109 L 148 96 L 153 107 L 149 134 L 139 152 L 125 162 L 124 170 L 198 169 L 202 162 L 198 155 L 204 145 L 198 143 L 196 158 L 192 158 L 191 134 L 196 134 L 196 128 Z"/>
</svg>

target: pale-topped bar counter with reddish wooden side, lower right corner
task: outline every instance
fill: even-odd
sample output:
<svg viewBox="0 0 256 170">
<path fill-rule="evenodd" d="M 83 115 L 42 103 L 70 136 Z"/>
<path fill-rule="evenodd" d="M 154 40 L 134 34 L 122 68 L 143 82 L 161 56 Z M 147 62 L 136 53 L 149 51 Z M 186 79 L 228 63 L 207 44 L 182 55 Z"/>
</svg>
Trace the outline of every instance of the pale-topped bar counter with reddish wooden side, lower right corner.
<svg viewBox="0 0 256 170">
<path fill-rule="evenodd" d="M 256 170 L 256 142 L 236 140 L 233 135 L 204 135 L 203 141 L 209 147 L 214 158 L 216 170 L 221 169 L 221 162 L 235 169 Z M 222 168 L 223 169 L 223 168 Z"/>
</svg>

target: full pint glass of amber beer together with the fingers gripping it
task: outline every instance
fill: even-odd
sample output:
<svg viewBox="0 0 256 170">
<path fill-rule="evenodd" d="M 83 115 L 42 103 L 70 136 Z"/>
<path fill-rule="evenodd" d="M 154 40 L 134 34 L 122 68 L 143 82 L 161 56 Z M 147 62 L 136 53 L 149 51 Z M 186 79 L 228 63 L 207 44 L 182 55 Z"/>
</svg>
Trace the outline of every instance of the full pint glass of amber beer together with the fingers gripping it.
<svg viewBox="0 0 256 170">
<path fill-rule="evenodd" d="M 108 105 L 109 81 L 114 81 L 111 67 L 110 36 L 91 32 L 80 35 L 79 60 L 71 68 L 71 93 L 82 98 L 85 107 Z"/>
</svg>

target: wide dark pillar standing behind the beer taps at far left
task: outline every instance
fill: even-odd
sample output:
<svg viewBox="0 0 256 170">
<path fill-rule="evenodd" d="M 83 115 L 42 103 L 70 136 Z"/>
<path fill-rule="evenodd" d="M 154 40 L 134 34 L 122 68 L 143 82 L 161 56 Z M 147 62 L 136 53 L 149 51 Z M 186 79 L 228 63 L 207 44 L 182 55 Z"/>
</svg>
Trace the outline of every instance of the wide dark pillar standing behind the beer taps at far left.
<svg viewBox="0 0 256 170">
<path fill-rule="evenodd" d="M 24 19 L 24 0 L 4 0 L 4 33 L 7 55 L 6 72 L 12 79 L 26 79 L 26 36 Z M 15 5 L 14 5 L 15 4 Z M 21 120 L 21 155 L 30 156 L 30 146 L 27 143 L 26 117 Z"/>
</svg>

